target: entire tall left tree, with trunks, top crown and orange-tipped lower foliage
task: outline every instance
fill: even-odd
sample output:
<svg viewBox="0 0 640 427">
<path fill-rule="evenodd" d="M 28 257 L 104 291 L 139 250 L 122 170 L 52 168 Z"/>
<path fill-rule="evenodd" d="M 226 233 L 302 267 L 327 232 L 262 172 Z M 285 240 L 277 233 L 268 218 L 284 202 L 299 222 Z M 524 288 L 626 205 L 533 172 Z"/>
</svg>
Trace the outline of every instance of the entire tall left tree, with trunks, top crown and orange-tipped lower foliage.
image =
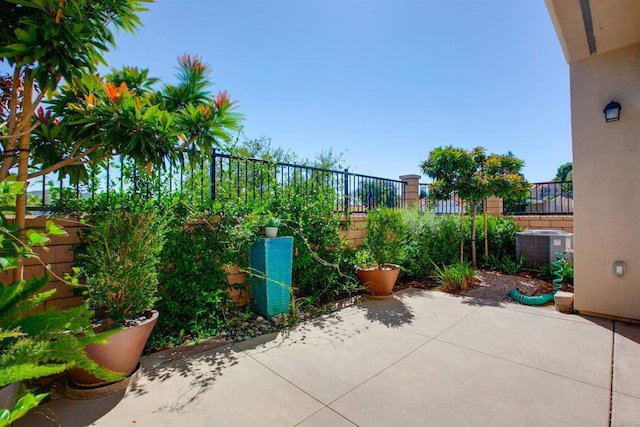
<svg viewBox="0 0 640 427">
<path fill-rule="evenodd" d="M 135 30 L 150 1 L 0 0 L 0 64 L 11 69 L 0 79 L 0 180 L 17 169 L 21 182 L 54 171 L 80 182 L 89 164 L 120 154 L 150 170 L 229 139 L 240 117 L 226 92 L 211 95 L 198 57 L 183 56 L 178 83 L 160 89 L 147 70 L 97 74 L 113 31 Z"/>
</svg>

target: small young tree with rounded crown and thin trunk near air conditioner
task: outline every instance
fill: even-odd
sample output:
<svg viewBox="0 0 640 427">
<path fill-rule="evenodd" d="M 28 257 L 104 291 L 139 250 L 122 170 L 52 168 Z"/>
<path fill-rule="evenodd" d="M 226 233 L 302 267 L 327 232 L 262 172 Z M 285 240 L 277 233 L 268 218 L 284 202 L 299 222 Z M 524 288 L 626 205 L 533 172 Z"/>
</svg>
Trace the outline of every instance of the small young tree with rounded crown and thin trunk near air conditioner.
<svg viewBox="0 0 640 427">
<path fill-rule="evenodd" d="M 478 206 L 489 196 L 512 199 L 526 194 L 529 184 L 520 172 L 523 166 L 524 162 L 510 152 L 487 155 L 482 147 L 466 151 L 452 146 L 433 149 L 421 165 L 423 172 L 434 180 L 430 190 L 436 200 L 457 196 L 471 205 L 471 259 L 474 267 L 477 266 Z"/>
</svg>

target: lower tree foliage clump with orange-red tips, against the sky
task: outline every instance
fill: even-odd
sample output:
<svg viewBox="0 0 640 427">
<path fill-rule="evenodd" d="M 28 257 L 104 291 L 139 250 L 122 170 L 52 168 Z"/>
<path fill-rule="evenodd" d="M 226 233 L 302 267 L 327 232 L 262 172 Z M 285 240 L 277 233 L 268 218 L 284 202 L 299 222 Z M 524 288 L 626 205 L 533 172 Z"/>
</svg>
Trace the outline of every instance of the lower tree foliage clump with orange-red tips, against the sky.
<svg viewBox="0 0 640 427">
<path fill-rule="evenodd" d="M 40 174 L 62 167 L 72 181 L 85 181 L 86 165 L 114 155 L 126 155 L 150 172 L 152 165 L 177 160 L 180 151 L 195 148 L 208 153 L 229 141 L 241 116 L 232 112 L 226 92 L 210 95 L 208 66 L 198 57 L 184 55 L 178 69 L 179 82 L 160 90 L 155 90 L 158 79 L 136 67 L 112 70 L 105 77 L 85 75 L 73 86 L 63 86 L 49 109 L 64 117 L 64 130 L 37 129 L 33 145 L 40 159 L 59 159 L 44 151 L 61 147 L 67 155 L 62 163 L 43 163 Z"/>
</svg>

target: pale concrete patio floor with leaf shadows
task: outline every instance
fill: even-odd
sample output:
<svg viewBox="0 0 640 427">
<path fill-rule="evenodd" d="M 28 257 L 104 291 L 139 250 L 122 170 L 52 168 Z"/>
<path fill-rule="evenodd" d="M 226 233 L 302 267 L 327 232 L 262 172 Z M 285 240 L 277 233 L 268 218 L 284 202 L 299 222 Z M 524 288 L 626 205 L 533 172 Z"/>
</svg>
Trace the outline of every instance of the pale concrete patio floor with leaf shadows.
<svg viewBox="0 0 640 427">
<path fill-rule="evenodd" d="M 55 400 L 18 425 L 640 425 L 640 325 L 552 307 L 407 289 L 207 345 L 143 358 L 126 395 Z"/>
</svg>

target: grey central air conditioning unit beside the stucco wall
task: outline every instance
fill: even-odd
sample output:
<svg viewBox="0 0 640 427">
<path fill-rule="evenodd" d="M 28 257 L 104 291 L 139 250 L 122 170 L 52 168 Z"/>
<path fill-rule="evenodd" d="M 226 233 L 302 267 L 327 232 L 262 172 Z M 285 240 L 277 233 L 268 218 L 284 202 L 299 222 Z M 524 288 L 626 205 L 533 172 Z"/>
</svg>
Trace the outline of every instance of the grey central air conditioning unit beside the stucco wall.
<svg viewBox="0 0 640 427">
<path fill-rule="evenodd" d="M 556 252 L 573 260 L 573 233 L 558 230 L 527 230 L 516 233 L 516 258 L 524 258 L 523 267 L 537 270 L 556 261 Z"/>
</svg>

